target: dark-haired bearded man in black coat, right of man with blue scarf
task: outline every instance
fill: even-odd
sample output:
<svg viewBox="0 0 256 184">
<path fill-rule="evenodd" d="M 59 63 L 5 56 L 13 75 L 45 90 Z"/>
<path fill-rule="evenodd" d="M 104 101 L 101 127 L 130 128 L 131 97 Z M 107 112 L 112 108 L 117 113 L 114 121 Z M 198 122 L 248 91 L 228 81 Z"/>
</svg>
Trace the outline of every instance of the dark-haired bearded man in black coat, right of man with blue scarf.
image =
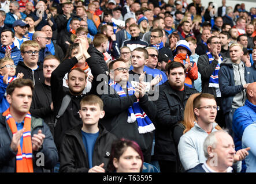
<svg viewBox="0 0 256 184">
<path fill-rule="evenodd" d="M 177 163 L 172 127 L 183 120 L 187 99 L 196 90 L 184 85 L 186 69 L 182 63 L 168 63 L 166 72 L 168 81 L 160 86 L 156 101 L 158 115 L 154 156 L 162 173 L 175 173 Z"/>
</svg>

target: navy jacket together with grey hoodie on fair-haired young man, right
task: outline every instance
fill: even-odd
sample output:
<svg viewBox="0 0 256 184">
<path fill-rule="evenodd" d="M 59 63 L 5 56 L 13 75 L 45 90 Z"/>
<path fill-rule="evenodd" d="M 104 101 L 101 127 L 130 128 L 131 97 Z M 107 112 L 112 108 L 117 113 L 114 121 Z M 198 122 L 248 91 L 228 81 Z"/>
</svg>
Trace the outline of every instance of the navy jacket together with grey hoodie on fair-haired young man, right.
<svg viewBox="0 0 256 184">
<path fill-rule="evenodd" d="M 230 58 L 222 61 L 218 72 L 218 83 L 220 85 L 222 109 L 224 114 L 243 106 L 246 101 L 246 93 L 243 87 L 246 83 L 253 81 L 253 74 L 243 62 L 235 64 Z"/>
</svg>

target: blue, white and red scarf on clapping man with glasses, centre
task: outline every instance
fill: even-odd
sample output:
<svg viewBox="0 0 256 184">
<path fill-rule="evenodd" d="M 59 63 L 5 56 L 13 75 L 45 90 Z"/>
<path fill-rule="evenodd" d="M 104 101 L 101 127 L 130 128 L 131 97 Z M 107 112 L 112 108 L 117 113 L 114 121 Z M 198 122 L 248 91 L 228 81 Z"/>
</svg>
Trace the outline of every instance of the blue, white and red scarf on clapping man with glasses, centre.
<svg viewBox="0 0 256 184">
<path fill-rule="evenodd" d="M 109 86 L 112 87 L 120 97 L 126 97 L 123 88 L 118 85 L 118 83 L 113 82 L 112 80 L 109 81 Z M 135 93 L 131 83 L 127 82 L 127 90 L 128 95 L 133 95 Z M 147 114 L 140 108 L 139 99 L 138 101 L 134 102 L 132 106 L 128 108 L 128 123 L 138 122 L 138 131 L 139 133 L 147 133 L 152 132 L 155 129 L 153 122 L 147 116 Z"/>
</svg>

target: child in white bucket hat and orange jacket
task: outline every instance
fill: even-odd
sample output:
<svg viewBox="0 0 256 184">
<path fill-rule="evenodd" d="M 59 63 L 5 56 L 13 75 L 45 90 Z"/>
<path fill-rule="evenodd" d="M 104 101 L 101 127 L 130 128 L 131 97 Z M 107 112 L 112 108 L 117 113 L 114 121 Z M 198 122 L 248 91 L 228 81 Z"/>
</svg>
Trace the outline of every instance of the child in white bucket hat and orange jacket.
<svg viewBox="0 0 256 184">
<path fill-rule="evenodd" d="M 185 40 L 180 40 L 176 43 L 176 49 L 173 52 L 175 55 L 174 61 L 184 64 L 187 69 L 185 76 L 185 85 L 195 87 L 194 81 L 198 78 L 198 68 L 195 62 L 190 60 L 191 50 L 190 45 Z"/>
</svg>

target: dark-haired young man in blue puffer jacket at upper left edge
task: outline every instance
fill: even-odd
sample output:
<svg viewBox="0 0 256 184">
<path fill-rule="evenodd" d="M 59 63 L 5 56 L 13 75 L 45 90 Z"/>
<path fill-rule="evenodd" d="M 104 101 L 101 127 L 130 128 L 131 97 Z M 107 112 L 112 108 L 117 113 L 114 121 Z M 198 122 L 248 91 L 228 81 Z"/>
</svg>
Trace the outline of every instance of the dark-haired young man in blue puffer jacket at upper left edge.
<svg viewBox="0 0 256 184">
<path fill-rule="evenodd" d="M 1 43 L 0 47 L 0 59 L 3 57 L 11 57 L 14 64 L 23 62 L 23 58 L 20 55 L 20 49 L 18 49 L 14 43 L 14 33 L 10 29 L 4 29 L 1 32 Z"/>
</svg>

